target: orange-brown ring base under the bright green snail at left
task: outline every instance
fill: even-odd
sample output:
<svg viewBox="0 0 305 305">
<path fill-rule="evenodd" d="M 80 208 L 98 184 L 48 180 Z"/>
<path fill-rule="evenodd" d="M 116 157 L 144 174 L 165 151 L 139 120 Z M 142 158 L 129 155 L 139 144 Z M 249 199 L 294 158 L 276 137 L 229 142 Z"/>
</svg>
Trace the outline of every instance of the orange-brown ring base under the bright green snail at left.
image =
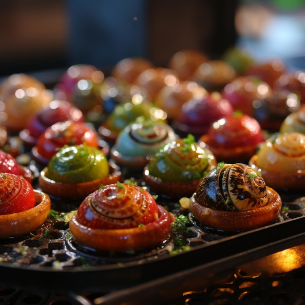
<svg viewBox="0 0 305 305">
<path fill-rule="evenodd" d="M 101 185 L 108 185 L 120 181 L 122 173 L 115 167 L 109 167 L 108 176 L 93 181 L 82 183 L 61 183 L 49 179 L 48 169 L 44 168 L 38 177 L 38 183 L 41 189 L 55 198 L 69 200 L 83 200 L 90 193 L 98 190 Z"/>
</svg>

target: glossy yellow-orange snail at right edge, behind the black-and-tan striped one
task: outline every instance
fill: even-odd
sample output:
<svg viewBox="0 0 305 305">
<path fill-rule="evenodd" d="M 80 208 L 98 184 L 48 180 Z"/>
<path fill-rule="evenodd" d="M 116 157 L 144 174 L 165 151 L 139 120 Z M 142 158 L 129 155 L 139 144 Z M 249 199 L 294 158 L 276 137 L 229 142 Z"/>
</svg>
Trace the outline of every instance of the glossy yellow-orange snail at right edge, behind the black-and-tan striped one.
<svg viewBox="0 0 305 305">
<path fill-rule="evenodd" d="M 249 165 L 262 173 L 266 183 L 279 190 L 303 190 L 305 134 L 275 133 L 251 157 Z"/>
</svg>

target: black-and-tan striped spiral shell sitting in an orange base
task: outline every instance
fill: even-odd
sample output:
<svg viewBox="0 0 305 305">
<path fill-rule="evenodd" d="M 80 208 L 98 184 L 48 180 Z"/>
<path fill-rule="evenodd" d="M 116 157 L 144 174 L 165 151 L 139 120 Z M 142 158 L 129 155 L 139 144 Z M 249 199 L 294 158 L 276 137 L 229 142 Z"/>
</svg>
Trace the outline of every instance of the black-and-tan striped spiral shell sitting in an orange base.
<svg viewBox="0 0 305 305">
<path fill-rule="evenodd" d="M 202 205 L 228 211 L 245 211 L 268 203 L 264 179 L 243 163 L 218 165 L 197 186 L 196 200 Z"/>
</svg>

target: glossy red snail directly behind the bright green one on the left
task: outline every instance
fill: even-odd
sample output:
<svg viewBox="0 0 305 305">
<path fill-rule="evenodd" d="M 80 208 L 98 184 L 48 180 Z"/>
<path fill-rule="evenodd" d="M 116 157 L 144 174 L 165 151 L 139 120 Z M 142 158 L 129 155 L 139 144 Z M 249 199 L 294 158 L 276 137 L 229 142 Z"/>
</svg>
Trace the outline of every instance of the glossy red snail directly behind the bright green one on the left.
<svg viewBox="0 0 305 305">
<path fill-rule="evenodd" d="M 64 145 L 86 144 L 99 147 L 98 133 L 84 122 L 66 120 L 49 126 L 37 139 L 32 148 L 32 157 L 39 165 L 47 165 L 52 156 Z M 103 147 L 108 153 L 108 147 Z"/>
</svg>

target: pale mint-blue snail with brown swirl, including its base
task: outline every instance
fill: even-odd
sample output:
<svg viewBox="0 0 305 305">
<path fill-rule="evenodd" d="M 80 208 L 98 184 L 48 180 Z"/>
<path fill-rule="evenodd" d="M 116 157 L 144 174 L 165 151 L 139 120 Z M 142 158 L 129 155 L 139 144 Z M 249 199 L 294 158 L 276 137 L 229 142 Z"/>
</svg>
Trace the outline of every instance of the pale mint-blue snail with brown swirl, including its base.
<svg viewBox="0 0 305 305">
<path fill-rule="evenodd" d="M 152 154 L 176 138 L 166 122 L 141 116 L 118 134 L 110 153 L 119 166 L 143 170 Z"/>
</svg>

